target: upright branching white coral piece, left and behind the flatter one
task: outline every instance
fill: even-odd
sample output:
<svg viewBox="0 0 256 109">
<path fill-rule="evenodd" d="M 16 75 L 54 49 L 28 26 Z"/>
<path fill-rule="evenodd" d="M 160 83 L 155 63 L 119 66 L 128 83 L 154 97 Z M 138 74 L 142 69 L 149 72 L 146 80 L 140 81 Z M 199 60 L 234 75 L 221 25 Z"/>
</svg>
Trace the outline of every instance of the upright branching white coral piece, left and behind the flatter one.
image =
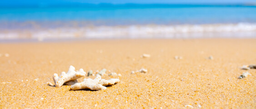
<svg viewBox="0 0 256 109">
<path fill-rule="evenodd" d="M 75 79 L 79 79 L 79 78 L 85 76 L 85 74 L 86 73 L 84 72 L 83 69 L 79 69 L 79 71 L 75 71 L 75 67 L 70 65 L 68 72 L 67 73 L 61 72 L 60 77 L 58 76 L 58 74 L 53 74 L 53 80 L 55 83 L 55 87 L 60 87 L 66 82 L 68 82 L 67 84 L 69 84 L 69 85 L 74 84 L 75 82 L 77 82 L 77 80 L 74 81 Z"/>
</svg>

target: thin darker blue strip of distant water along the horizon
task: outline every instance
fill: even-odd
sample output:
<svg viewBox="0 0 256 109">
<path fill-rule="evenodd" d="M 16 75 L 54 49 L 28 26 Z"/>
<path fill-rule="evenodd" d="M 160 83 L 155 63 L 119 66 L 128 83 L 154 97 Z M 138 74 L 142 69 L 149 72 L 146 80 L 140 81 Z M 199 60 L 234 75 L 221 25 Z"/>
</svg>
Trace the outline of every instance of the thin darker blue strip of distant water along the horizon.
<svg viewBox="0 0 256 109">
<path fill-rule="evenodd" d="M 181 4 L 173 4 L 173 3 L 168 3 L 168 4 L 163 4 L 163 3 L 146 3 L 146 4 L 141 4 L 141 3 L 124 3 L 124 4 L 113 4 L 113 3 L 62 3 L 62 4 L 30 4 L 30 5 L 19 5 L 19 4 L 14 4 L 14 5 L 0 5 L 0 8 L 47 8 L 47 7 L 138 7 L 138 6 L 151 6 L 151 7 L 169 7 L 169 6 L 179 6 L 179 7 L 203 7 L 203 6 L 213 6 L 213 7 L 236 7 L 236 6 L 241 6 L 241 7 L 256 7 L 256 2 L 255 3 L 181 3 Z"/>
</svg>

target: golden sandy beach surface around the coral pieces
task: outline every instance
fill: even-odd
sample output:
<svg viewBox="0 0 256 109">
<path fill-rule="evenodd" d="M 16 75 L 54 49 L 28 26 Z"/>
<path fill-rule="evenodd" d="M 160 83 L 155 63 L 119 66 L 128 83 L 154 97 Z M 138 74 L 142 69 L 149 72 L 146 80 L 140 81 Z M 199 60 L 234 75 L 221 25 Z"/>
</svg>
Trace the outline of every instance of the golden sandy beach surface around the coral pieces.
<svg viewBox="0 0 256 109">
<path fill-rule="evenodd" d="M 237 79 L 245 71 L 239 67 L 256 64 L 256 39 L 9 43 L 0 44 L 0 54 L 0 109 L 256 109 L 256 69 Z M 105 68 L 107 74 L 122 76 L 102 76 L 119 78 L 120 83 L 100 91 L 46 85 L 70 65 L 86 72 Z M 141 68 L 148 72 L 131 74 Z"/>
</svg>

